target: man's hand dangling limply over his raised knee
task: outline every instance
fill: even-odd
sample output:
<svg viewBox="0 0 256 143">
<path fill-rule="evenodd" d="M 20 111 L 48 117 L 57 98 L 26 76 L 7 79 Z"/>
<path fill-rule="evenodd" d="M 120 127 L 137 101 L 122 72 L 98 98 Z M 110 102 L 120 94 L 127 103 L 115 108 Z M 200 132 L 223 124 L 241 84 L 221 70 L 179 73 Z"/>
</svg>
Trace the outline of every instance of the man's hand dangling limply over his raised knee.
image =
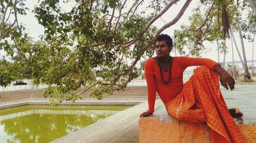
<svg viewBox="0 0 256 143">
<path fill-rule="evenodd" d="M 227 73 L 221 66 L 215 66 L 214 71 L 216 71 L 220 76 L 221 85 L 228 90 L 228 86 L 230 90 L 234 89 L 234 78 Z"/>
</svg>

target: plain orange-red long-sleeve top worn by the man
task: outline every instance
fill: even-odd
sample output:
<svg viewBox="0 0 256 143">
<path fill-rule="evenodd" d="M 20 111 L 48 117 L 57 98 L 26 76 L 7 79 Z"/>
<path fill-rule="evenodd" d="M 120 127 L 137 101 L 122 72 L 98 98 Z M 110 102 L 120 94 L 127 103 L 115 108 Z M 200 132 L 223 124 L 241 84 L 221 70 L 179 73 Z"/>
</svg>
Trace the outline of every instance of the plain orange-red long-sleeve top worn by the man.
<svg viewBox="0 0 256 143">
<path fill-rule="evenodd" d="M 160 68 L 155 58 L 150 58 L 145 63 L 145 77 L 147 83 L 148 112 L 155 111 L 156 92 L 164 104 L 172 101 L 183 88 L 183 72 L 189 66 L 206 66 L 213 70 L 219 65 L 215 61 L 206 58 L 188 58 L 186 56 L 173 57 L 172 77 L 168 84 L 161 80 Z M 169 71 L 162 72 L 164 81 L 169 79 Z"/>
</svg>

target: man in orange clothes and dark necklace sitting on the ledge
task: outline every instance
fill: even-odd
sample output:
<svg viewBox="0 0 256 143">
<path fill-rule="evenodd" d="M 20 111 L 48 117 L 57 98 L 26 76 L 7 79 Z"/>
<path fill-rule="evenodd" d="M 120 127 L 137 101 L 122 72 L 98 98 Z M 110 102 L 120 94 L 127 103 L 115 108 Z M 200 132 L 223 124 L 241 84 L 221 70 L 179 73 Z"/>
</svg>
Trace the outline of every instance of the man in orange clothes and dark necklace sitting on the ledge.
<svg viewBox="0 0 256 143">
<path fill-rule="evenodd" d="M 206 58 L 170 56 L 173 41 L 166 34 L 155 41 L 156 57 L 145 62 L 148 110 L 140 118 L 153 115 L 156 92 L 168 115 L 187 123 L 206 123 L 211 142 L 245 142 L 232 117 L 242 117 L 238 108 L 228 109 L 220 91 L 220 83 L 228 90 L 235 81 L 220 64 Z M 183 84 L 183 72 L 189 66 L 200 66 Z"/>
</svg>

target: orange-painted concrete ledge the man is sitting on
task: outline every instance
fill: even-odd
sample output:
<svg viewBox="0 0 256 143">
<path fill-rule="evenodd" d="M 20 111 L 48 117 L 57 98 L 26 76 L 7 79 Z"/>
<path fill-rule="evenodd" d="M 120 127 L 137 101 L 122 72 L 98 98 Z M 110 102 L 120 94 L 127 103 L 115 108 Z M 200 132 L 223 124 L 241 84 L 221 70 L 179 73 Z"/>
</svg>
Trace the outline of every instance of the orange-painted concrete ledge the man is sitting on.
<svg viewBox="0 0 256 143">
<path fill-rule="evenodd" d="M 241 123 L 236 121 L 237 123 Z M 239 125 L 246 142 L 256 142 L 254 123 Z M 248 122 L 247 122 L 248 123 Z M 206 124 L 189 124 L 170 117 L 164 105 L 156 108 L 154 116 L 140 118 L 139 142 L 211 142 Z"/>
</svg>

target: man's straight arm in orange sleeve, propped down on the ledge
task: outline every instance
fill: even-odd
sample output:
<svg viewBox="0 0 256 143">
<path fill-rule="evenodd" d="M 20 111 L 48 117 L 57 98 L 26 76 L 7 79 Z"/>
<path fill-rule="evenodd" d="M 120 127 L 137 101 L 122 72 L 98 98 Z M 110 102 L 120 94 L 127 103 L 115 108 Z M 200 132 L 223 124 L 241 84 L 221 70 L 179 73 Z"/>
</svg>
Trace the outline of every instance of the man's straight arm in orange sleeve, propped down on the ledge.
<svg viewBox="0 0 256 143">
<path fill-rule="evenodd" d="M 143 112 L 140 115 L 140 117 L 148 117 L 153 115 L 153 112 L 155 112 L 154 108 L 155 108 L 155 101 L 156 101 L 156 82 L 155 82 L 153 64 L 147 61 L 145 63 L 144 71 L 145 71 L 146 84 L 147 84 L 148 110 Z"/>
</svg>

